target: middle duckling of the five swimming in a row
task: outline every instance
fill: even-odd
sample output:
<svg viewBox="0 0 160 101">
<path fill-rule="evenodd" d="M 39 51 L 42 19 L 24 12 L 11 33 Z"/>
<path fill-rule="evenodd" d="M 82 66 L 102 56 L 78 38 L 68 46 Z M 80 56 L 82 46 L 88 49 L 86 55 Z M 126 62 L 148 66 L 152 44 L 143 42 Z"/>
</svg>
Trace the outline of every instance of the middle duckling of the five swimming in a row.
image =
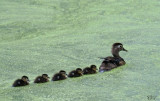
<svg viewBox="0 0 160 101">
<path fill-rule="evenodd" d="M 64 79 L 67 79 L 67 74 L 66 74 L 66 71 L 61 70 L 59 71 L 59 73 L 56 73 L 53 76 L 52 81 L 58 81 L 58 80 L 64 80 Z"/>
</svg>

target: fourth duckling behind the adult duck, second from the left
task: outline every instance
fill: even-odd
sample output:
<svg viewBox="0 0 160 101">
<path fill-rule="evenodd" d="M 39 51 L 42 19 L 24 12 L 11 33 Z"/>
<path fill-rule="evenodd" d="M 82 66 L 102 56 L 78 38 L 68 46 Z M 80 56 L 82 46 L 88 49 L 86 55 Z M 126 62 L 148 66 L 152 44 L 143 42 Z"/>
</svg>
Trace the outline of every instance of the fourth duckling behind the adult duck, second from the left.
<svg viewBox="0 0 160 101">
<path fill-rule="evenodd" d="M 47 74 L 42 74 L 42 76 L 38 76 L 36 77 L 36 79 L 34 80 L 34 83 L 45 83 L 48 82 L 49 77 Z"/>
</svg>

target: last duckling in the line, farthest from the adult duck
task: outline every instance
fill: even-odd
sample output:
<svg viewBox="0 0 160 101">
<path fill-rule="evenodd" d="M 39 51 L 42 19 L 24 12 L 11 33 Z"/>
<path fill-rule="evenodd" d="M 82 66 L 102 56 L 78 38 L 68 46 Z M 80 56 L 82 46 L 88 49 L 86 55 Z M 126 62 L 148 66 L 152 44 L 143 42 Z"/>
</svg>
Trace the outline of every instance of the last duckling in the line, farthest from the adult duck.
<svg viewBox="0 0 160 101">
<path fill-rule="evenodd" d="M 20 87 L 26 85 L 29 85 L 29 79 L 27 76 L 22 76 L 21 79 L 17 79 L 16 81 L 14 81 L 12 87 Z"/>
</svg>

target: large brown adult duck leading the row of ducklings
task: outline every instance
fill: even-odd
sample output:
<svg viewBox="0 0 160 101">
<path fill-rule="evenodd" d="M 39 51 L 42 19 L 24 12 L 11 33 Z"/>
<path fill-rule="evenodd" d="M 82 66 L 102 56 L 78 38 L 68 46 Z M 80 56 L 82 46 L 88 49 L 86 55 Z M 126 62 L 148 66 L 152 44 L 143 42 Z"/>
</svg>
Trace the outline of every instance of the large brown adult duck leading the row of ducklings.
<svg viewBox="0 0 160 101">
<path fill-rule="evenodd" d="M 103 59 L 103 61 L 100 65 L 100 67 L 99 67 L 99 72 L 110 71 L 113 68 L 117 68 L 119 66 L 125 65 L 126 62 L 119 55 L 120 51 L 128 52 L 128 50 L 126 50 L 123 47 L 122 43 L 114 43 L 112 45 L 112 51 L 111 51 L 113 56 L 108 56 L 108 57 L 105 57 L 105 58 L 101 58 L 101 59 Z"/>
</svg>

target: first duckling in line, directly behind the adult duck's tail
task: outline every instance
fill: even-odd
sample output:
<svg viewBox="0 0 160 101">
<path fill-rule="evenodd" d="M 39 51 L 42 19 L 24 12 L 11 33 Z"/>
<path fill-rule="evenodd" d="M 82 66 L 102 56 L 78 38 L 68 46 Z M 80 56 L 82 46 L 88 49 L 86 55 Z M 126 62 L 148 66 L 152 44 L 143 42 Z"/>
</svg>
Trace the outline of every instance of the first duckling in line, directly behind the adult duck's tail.
<svg viewBox="0 0 160 101">
<path fill-rule="evenodd" d="M 96 65 L 91 65 L 90 67 L 86 67 L 83 69 L 83 74 L 95 74 L 97 73 L 97 66 Z"/>
</svg>

